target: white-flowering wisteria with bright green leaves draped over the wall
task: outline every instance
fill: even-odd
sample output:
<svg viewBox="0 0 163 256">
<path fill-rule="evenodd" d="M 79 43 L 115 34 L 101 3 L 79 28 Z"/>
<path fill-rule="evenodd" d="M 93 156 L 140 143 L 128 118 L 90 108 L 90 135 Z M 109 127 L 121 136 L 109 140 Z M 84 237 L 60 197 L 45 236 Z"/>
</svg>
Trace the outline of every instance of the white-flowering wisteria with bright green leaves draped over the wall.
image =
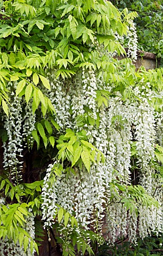
<svg viewBox="0 0 163 256">
<path fill-rule="evenodd" d="M 38 221 L 64 256 L 162 232 L 163 69 L 135 70 L 136 15 L 1 1 L 2 256 L 38 253 Z"/>
</svg>

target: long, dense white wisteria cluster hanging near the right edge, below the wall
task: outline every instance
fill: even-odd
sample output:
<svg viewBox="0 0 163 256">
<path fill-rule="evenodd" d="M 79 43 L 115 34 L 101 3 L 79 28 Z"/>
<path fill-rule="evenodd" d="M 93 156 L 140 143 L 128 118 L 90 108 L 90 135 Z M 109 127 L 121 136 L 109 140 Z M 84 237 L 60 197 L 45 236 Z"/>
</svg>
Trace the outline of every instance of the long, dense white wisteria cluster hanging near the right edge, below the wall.
<svg viewBox="0 0 163 256">
<path fill-rule="evenodd" d="M 137 92 L 139 90 L 137 89 Z M 140 95 L 140 92 L 139 92 Z M 140 184 L 151 193 L 152 189 L 152 161 L 155 157 L 155 116 L 154 109 L 146 98 L 141 97 L 134 117 L 136 150 L 140 167 Z"/>
</svg>

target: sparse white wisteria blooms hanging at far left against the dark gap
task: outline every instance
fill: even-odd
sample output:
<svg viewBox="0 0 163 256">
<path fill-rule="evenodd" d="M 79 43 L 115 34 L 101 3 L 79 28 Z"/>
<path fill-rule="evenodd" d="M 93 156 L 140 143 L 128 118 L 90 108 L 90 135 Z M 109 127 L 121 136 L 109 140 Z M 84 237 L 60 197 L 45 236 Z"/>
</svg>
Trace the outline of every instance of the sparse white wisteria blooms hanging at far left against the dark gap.
<svg viewBox="0 0 163 256">
<path fill-rule="evenodd" d="M 8 86 L 16 88 L 16 83 L 9 82 Z M 3 166 L 8 171 L 8 177 L 13 183 L 22 180 L 23 150 L 33 143 L 31 133 L 35 130 L 36 114 L 32 111 L 32 101 L 27 103 L 22 97 L 10 94 L 8 103 L 9 115 L 3 115 L 2 121 L 7 132 L 7 141 L 3 143 L 4 162 Z M 25 143 L 24 143 L 25 142 Z"/>
</svg>

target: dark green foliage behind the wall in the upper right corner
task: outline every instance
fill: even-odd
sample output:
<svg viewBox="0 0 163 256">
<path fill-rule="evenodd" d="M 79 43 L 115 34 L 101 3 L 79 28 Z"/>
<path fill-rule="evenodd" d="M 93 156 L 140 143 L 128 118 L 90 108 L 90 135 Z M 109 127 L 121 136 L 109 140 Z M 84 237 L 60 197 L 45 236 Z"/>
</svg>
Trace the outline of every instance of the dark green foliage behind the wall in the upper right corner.
<svg viewBox="0 0 163 256">
<path fill-rule="evenodd" d="M 119 9 L 127 7 L 129 11 L 136 11 L 138 18 L 135 19 L 138 33 L 139 49 L 156 53 L 157 58 L 163 57 L 163 5 L 162 1 L 111 1 Z M 162 63 L 162 62 L 161 62 Z M 161 64 L 162 65 L 162 64 Z"/>
</svg>

